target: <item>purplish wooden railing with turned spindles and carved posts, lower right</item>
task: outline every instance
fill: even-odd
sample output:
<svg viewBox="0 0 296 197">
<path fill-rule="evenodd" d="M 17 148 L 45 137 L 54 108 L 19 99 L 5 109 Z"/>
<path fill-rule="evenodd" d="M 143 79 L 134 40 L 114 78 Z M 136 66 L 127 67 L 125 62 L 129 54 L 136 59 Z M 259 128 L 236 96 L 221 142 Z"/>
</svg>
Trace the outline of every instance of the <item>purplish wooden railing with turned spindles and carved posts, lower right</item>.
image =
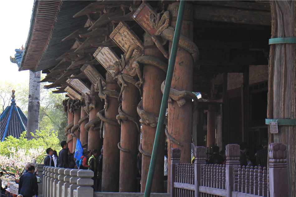
<svg viewBox="0 0 296 197">
<path fill-rule="evenodd" d="M 180 150 L 171 150 L 170 196 L 267 197 L 288 196 L 287 147 L 269 145 L 269 171 L 239 164 L 237 144 L 226 146 L 226 165 L 206 164 L 206 148 L 195 147 L 194 164 L 180 163 Z"/>
</svg>

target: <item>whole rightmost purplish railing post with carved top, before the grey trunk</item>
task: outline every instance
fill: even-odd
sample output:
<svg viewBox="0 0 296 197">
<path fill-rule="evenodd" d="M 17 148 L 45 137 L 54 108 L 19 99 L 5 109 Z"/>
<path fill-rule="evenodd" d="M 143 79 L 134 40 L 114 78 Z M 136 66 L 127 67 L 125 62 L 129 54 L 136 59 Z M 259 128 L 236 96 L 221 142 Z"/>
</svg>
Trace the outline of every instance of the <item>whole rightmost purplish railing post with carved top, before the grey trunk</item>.
<svg viewBox="0 0 296 197">
<path fill-rule="evenodd" d="M 268 156 L 270 197 L 288 196 L 287 145 L 269 144 Z"/>
</svg>

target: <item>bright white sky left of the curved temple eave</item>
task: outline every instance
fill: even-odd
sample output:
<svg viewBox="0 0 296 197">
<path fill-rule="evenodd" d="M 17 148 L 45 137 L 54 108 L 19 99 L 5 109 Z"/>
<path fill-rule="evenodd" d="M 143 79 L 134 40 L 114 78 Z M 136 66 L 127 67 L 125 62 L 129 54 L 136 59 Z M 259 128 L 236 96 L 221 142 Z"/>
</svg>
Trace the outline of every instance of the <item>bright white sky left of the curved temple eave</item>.
<svg viewBox="0 0 296 197">
<path fill-rule="evenodd" d="M 15 49 L 26 44 L 32 15 L 33 0 L 2 1 L 1 46 L 0 46 L 0 82 L 22 83 L 29 81 L 29 71 L 18 71 L 16 63 L 12 63 Z"/>
</svg>

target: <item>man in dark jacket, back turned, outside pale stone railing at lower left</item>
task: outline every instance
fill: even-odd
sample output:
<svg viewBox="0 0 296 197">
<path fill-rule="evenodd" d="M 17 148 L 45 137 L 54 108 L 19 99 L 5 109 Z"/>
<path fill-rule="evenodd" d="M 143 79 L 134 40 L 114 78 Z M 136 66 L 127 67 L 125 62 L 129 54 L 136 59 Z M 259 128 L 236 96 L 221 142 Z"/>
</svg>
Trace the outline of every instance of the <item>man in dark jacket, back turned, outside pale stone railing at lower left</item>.
<svg viewBox="0 0 296 197">
<path fill-rule="evenodd" d="M 38 184 L 37 178 L 33 174 L 35 171 L 34 166 L 28 167 L 28 172 L 23 174 L 18 184 L 18 194 L 23 197 L 32 197 L 33 195 L 38 196 Z"/>
</svg>

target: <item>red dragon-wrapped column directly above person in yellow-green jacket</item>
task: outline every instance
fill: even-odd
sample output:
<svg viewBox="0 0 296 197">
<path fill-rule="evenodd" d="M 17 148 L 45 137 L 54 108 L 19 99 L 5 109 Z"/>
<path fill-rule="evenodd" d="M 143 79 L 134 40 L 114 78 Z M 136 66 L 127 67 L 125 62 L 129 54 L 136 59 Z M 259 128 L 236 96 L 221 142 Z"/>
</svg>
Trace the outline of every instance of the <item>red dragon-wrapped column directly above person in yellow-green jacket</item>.
<svg viewBox="0 0 296 197">
<path fill-rule="evenodd" d="M 89 111 L 88 124 L 93 125 L 93 128 L 90 127 L 88 130 L 88 150 L 97 149 L 100 154 L 100 150 L 103 145 L 103 139 L 100 138 L 100 124 L 97 121 L 96 121 L 96 123 L 93 124 L 92 121 L 99 120 L 99 118 L 97 117 L 97 113 L 103 109 L 104 104 L 101 101 L 101 99 L 98 97 L 98 93 L 94 90 L 94 88 L 91 88 L 91 89 L 92 90 L 90 93 L 90 98 L 91 98 L 90 104 L 95 103 L 95 105 Z"/>
</svg>

